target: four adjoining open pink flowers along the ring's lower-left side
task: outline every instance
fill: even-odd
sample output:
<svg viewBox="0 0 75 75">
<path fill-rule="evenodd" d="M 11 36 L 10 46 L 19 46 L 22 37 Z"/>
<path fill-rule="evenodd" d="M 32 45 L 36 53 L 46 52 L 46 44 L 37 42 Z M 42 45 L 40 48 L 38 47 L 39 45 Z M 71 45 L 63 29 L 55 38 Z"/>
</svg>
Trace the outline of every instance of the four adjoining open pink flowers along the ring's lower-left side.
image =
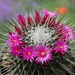
<svg viewBox="0 0 75 75">
<path fill-rule="evenodd" d="M 44 45 L 39 45 L 36 47 L 26 45 L 26 47 L 22 47 L 22 38 L 17 33 L 12 33 L 8 39 L 9 40 L 7 40 L 7 42 L 11 48 L 9 53 L 16 56 L 16 58 L 22 56 L 23 60 L 33 62 L 35 59 L 35 61 L 42 64 L 52 60 L 52 53 L 50 52 L 50 49 Z"/>
</svg>

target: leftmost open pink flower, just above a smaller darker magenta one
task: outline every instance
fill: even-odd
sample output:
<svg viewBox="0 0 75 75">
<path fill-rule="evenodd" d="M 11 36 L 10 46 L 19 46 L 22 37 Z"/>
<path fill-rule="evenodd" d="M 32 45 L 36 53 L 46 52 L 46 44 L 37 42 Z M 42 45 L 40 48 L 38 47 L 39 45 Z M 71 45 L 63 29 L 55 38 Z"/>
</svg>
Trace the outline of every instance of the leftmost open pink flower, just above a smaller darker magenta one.
<svg viewBox="0 0 75 75">
<path fill-rule="evenodd" d="M 22 40 L 21 36 L 15 33 L 8 36 L 7 43 L 9 44 L 9 46 L 16 46 L 22 43 L 21 40 Z"/>
</svg>

